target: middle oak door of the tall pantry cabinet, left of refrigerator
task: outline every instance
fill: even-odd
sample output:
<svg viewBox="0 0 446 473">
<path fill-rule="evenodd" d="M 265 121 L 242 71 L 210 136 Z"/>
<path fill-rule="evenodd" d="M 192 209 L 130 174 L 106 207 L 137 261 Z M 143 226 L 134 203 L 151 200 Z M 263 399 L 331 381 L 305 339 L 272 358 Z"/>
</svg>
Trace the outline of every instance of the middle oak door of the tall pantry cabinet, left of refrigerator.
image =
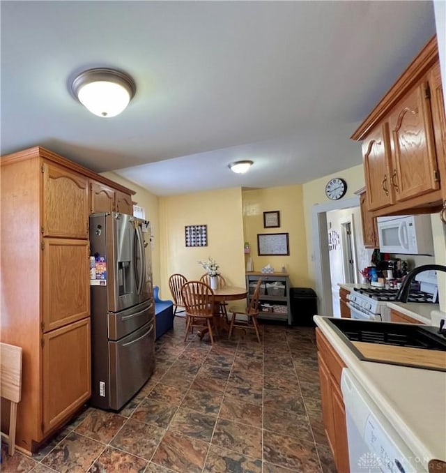
<svg viewBox="0 0 446 473">
<path fill-rule="evenodd" d="M 89 242 L 44 239 L 43 331 L 90 315 Z"/>
</svg>

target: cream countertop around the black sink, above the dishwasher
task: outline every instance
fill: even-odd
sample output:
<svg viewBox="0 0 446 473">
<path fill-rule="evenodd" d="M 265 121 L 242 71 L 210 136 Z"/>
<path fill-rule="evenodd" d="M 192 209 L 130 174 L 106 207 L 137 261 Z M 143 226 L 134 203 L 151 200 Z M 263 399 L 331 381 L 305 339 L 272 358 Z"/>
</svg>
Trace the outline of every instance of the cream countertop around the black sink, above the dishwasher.
<svg viewBox="0 0 446 473">
<path fill-rule="evenodd" d="M 426 470 L 433 458 L 446 461 L 446 373 L 361 361 L 327 317 L 314 322 Z"/>
</svg>

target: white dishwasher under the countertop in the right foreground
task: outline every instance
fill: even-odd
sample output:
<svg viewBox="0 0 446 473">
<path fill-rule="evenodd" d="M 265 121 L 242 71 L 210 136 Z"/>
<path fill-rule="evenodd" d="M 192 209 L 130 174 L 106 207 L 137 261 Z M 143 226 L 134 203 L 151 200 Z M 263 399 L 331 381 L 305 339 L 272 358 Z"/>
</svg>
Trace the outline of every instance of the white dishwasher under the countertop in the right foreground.
<svg viewBox="0 0 446 473">
<path fill-rule="evenodd" d="M 342 370 L 341 391 L 351 473 L 427 472 L 348 368 Z"/>
</svg>

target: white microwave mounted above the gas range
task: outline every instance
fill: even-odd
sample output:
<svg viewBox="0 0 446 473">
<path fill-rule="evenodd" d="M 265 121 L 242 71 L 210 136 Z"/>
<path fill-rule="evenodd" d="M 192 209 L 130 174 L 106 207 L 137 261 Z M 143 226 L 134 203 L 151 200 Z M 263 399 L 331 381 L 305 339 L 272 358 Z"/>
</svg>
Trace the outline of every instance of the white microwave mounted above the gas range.
<svg viewBox="0 0 446 473">
<path fill-rule="evenodd" d="M 378 217 L 379 250 L 401 255 L 433 255 L 431 216 Z"/>
</svg>

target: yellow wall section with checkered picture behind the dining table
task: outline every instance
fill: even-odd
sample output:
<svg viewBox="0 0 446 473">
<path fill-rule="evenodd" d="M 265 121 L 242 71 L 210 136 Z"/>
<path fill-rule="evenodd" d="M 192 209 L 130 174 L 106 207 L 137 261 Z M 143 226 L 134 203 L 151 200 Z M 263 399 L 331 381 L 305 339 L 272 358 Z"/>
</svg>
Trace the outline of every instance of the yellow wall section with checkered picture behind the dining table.
<svg viewBox="0 0 446 473">
<path fill-rule="evenodd" d="M 245 287 L 243 257 L 242 191 L 240 188 L 159 197 L 160 288 L 170 299 L 169 276 L 182 273 L 199 279 L 204 269 L 198 261 L 213 257 L 226 283 Z M 208 246 L 185 246 L 185 225 L 208 225 Z"/>
</svg>

